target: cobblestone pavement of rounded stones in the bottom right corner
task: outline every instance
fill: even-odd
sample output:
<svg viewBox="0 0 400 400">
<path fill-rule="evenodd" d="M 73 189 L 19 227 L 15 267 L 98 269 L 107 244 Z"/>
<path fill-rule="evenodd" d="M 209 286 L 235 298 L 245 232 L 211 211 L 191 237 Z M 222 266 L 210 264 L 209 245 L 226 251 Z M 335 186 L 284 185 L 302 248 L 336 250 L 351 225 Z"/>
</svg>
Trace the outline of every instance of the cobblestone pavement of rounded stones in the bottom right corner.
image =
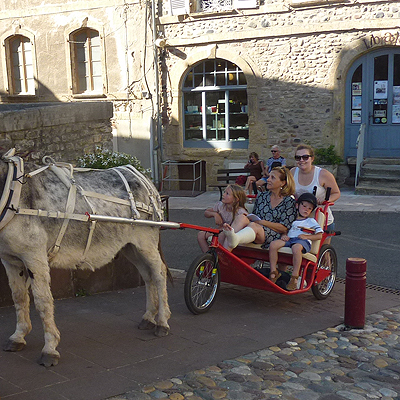
<svg viewBox="0 0 400 400">
<path fill-rule="evenodd" d="M 400 308 L 367 316 L 364 329 L 343 328 L 328 328 L 110 399 L 400 399 Z"/>
</svg>

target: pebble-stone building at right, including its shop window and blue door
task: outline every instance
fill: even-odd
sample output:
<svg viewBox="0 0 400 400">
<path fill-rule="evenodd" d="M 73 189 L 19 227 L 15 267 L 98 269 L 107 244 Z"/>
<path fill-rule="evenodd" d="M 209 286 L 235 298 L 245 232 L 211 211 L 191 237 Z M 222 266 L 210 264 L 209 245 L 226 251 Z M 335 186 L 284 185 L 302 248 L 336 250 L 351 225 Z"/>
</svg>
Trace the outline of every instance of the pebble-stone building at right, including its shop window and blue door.
<svg viewBox="0 0 400 400">
<path fill-rule="evenodd" d="M 165 3 L 165 156 L 206 159 L 210 181 L 251 151 L 300 142 L 400 158 L 400 2 Z M 169 8 L 168 8 L 169 7 Z"/>
</svg>

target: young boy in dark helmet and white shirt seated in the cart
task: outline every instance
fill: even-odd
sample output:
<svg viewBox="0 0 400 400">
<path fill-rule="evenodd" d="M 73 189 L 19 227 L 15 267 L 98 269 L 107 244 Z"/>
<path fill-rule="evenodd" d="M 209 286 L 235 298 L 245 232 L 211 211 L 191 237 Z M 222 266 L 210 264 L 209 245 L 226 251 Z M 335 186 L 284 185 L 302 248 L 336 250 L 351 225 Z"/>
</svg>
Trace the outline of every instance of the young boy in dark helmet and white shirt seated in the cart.
<svg viewBox="0 0 400 400">
<path fill-rule="evenodd" d="M 278 250 L 281 247 L 291 247 L 293 252 L 293 273 L 287 290 L 297 289 L 302 253 L 308 253 L 311 249 L 312 240 L 322 239 L 323 230 L 314 218 L 309 215 L 317 207 L 317 199 L 311 193 L 303 193 L 296 202 L 297 218 L 293 222 L 287 235 L 282 235 L 280 239 L 274 240 L 269 245 L 269 261 L 271 272 L 269 279 L 276 282 L 281 273 L 276 269 L 278 262 Z"/>
</svg>

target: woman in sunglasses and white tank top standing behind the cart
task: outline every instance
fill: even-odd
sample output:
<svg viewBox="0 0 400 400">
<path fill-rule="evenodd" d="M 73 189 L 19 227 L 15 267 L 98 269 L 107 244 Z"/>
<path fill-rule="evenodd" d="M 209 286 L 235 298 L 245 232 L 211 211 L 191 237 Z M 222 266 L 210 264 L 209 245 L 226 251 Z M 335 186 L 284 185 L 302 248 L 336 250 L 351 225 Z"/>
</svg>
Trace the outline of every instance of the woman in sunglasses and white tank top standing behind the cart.
<svg viewBox="0 0 400 400">
<path fill-rule="evenodd" d="M 297 167 L 291 169 L 296 185 L 296 199 L 303 193 L 312 193 L 314 186 L 317 187 L 318 204 L 325 200 L 326 189 L 331 188 L 329 201 L 334 203 L 340 197 L 340 189 L 332 173 L 324 168 L 313 165 L 314 149 L 306 144 L 299 144 L 294 156 Z M 328 209 L 328 230 L 334 229 L 334 218 L 331 209 Z"/>
</svg>

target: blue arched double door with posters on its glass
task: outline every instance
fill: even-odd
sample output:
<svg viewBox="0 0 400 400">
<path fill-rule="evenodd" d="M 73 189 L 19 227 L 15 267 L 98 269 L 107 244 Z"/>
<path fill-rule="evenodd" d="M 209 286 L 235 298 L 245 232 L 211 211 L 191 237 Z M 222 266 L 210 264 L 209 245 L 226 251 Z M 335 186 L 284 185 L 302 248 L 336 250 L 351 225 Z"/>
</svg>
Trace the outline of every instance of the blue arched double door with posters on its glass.
<svg viewBox="0 0 400 400">
<path fill-rule="evenodd" d="M 365 157 L 400 158 L 400 49 L 359 58 L 346 78 L 345 155 L 357 155 L 356 141 L 366 124 Z"/>
</svg>

